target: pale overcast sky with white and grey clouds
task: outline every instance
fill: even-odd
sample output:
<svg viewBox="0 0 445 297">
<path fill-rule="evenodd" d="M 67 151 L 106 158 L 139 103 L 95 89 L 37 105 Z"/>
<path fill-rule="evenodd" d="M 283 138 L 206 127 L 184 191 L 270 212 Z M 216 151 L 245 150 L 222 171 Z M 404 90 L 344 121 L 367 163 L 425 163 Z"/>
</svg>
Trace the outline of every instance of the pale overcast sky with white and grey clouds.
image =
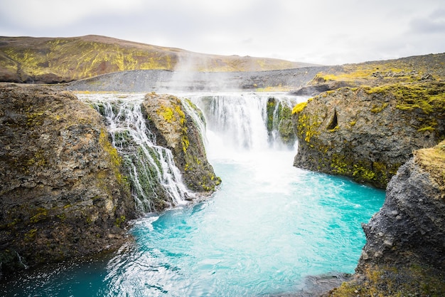
<svg viewBox="0 0 445 297">
<path fill-rule="evenodd" d="M 0 36 L 336 65 L 445 52 L 444 0 L 0 0 Z"/>
</svg>

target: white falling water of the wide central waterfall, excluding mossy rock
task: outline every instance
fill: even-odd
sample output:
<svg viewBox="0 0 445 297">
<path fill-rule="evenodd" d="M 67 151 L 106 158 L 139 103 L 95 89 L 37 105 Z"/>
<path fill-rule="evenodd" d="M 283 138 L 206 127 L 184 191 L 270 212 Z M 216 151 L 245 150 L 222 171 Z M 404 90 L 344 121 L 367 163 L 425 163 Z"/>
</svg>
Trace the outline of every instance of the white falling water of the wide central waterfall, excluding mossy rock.
<svg viewBox="0 0 445 297">
<path fill-rule="evenodd" d="M 190 98 L 205 114 L 207 121 L 207 150 L 210 158 L 233 158 L 244 152 L 280 149 L 282 143 L 277 136 L 277 110 L 274 110 L 272 138 L 267 131 L 267 101 L 274 97 L 290 108 L 307 98 L 288 96 L 281 93 L 218 93 L 190 94 Z"/>
</svg>

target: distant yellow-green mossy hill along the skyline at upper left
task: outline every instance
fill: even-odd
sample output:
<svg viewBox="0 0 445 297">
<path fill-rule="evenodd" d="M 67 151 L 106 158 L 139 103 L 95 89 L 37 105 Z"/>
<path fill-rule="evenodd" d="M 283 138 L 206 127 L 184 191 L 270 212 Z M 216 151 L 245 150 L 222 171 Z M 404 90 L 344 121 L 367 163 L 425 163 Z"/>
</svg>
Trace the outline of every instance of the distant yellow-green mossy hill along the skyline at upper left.
<svg viewBox="0 0 445 297">
<path fill-rule="evenodd" d="M 132 70 L 271 71 L 313 66 L 273 58 L 217 56 L 104 36 L 0 37 L 0 81 L 62 83 Z"/>
</svg>

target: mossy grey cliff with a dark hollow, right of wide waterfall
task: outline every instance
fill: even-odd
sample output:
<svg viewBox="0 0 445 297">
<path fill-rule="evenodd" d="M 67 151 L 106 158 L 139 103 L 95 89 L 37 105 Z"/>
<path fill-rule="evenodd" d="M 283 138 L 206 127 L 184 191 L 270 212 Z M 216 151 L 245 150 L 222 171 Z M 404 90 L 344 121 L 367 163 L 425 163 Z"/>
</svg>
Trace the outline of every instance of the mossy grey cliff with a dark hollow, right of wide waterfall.
<svg viewBox="0 0 445 297">
<path fill-rule="evenodd" d="M 413 150 L 445 135 L 445 83 L 340 88 L 294 108 L 294 165 L 385 188 Z"/>
</svg>

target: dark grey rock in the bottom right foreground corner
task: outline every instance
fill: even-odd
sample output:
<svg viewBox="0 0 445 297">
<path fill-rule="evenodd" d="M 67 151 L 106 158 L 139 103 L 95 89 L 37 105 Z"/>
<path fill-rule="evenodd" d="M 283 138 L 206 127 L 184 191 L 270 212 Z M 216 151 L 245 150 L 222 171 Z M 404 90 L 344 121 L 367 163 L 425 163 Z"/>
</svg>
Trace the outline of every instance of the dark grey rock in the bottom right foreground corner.
<svg viewBox="0 0 445 297">
<path fill-rule="evenodd" d="M 400 167 L 363 229 L 355 278 L 330 296 L 444 296 L 445 141 Z"/>
</svg>

